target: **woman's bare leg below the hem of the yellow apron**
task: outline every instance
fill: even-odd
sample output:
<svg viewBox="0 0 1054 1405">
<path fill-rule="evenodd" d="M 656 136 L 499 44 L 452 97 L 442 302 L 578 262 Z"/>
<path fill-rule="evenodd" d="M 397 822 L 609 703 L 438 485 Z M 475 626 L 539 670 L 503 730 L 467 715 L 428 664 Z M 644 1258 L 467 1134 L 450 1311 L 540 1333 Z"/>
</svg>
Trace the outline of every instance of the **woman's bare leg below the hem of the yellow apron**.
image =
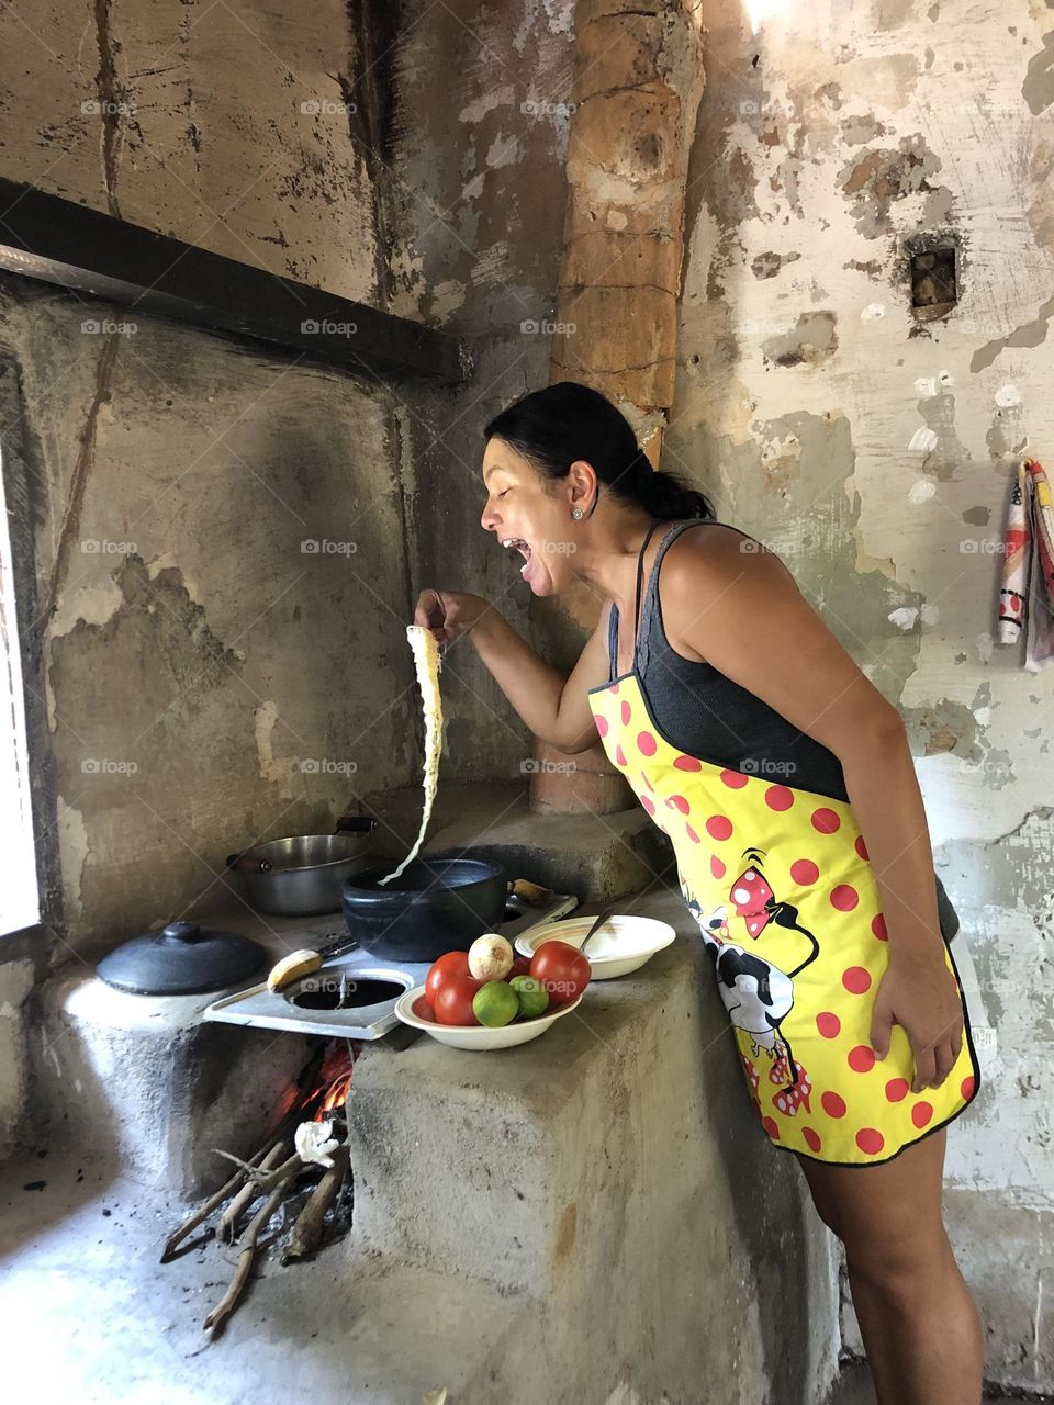
<svg viewBox="0 0 1054 1405">
<path fill-rule="evenodd" d="M 846 1246 L 878 1405 L 980 1405 L 984 1339 L 944 1232 L 944 1130 L 881 1166 L 800 1156 L 821 1220 Z"/>
</svg>

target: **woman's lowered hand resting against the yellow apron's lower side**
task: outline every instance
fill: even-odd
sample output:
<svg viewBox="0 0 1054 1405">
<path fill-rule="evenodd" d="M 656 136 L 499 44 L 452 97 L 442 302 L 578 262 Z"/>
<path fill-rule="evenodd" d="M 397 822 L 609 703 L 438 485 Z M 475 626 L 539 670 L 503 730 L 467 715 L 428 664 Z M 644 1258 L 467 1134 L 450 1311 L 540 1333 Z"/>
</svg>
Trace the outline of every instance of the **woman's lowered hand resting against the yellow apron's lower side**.
<svg viewBox="0 0 1054 1405">
<path fill-rule="evenodd" d="M 963 1003 L 944 962 L 944 943 L 925 953 L 890 951 L 871 1019 L 871 1048 L 890 1052 L 894 1024 L 904 1026 L 915 1055 L 912 1093 L 940 1087 L 963 1048 Z"/>
</svg>

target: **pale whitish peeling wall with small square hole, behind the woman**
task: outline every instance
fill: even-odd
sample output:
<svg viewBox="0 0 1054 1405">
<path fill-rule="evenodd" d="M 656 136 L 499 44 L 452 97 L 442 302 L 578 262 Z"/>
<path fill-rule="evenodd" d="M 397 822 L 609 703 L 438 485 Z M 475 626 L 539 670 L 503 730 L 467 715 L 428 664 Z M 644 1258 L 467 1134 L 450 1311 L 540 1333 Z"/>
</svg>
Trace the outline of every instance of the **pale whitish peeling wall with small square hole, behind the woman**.
<svg viewBox="0 0 1054 1405">
<path fill-rule="evenodd" d="M 772 6 L 756 35 L 743 10 L 707 11 L 663 458 L 908 722 L 985 1075 L 950 1229 L 989 1375 L 1051 1390 L 1054 670 L 994 646 L 1015 454 L 1054 458 L 1051 10 Z M 958 246 L 944 319 L 912 315 L 915 235 Z"/>
</svg>

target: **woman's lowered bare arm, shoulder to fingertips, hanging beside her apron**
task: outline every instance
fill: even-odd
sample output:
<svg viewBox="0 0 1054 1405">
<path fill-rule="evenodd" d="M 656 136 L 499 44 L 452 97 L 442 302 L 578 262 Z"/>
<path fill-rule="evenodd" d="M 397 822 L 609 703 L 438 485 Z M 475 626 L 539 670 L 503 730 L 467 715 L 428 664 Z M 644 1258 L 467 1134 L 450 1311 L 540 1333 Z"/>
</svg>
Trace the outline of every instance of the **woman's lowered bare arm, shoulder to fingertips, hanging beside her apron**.
<svg viewBox="0 0 1054 1405">
<path fill-rule="evenodd" d="M 871 1043 L 884 1057 L 892 1024 L 902 1024 L 915 1052 L 915 1090 L 940 1086 L 958 1057 L 963 1013 L 944 962 L 929 829 L 899 712 L 779 556 L 734 531 L 710 527 L 673 544 L 662 608 L 676 649 L 704 658 L 842 762 L 890 940 Z M 725 724 L 735 726 L 735 718 Z"/>
</svg>

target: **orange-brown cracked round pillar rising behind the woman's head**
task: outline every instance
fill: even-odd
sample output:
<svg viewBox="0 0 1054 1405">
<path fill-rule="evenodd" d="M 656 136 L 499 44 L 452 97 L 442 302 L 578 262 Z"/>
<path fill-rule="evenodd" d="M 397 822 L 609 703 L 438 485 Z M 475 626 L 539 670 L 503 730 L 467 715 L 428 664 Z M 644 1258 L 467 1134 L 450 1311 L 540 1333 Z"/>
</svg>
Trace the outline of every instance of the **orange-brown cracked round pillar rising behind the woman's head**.
<svg viewBox="0 0 1054 1405">
<path fill-rule="evenodd" d="M 703 96 L 701 0 L 578 0 L 568 214 L 551 381 L 580 381 L 630 419 L 652 465 L 673 403 L 684 185 Z M 547 632 L 579 645 L 600 601 L 580 590 L 533 603 Z M 535 743 L 531 808 L 611 813 L 632 804 L 603 749 L 566 757 Z M 565 763 L 573 762 L 573 766 Z"/>
</svg>

